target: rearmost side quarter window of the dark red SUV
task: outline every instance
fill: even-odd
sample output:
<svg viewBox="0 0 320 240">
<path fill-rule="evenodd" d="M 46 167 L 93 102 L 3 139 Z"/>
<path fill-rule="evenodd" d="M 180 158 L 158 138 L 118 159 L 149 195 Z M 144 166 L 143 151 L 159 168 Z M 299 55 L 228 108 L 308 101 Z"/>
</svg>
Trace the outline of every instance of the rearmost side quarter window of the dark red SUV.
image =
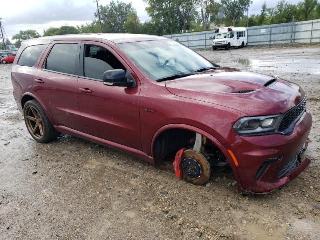
<svg viewBox="0 0 320 240">
<path fill-rule="evenodd" d="M 22 52 L 18 65 L 20 66 L 34 66 L 38 61 L 41 53 L 43 52 L 46 44 L 44 45 L 35 45 L 28 46 Z M 15 54 L 14 54 L 15 55 Z"/>
</svg>

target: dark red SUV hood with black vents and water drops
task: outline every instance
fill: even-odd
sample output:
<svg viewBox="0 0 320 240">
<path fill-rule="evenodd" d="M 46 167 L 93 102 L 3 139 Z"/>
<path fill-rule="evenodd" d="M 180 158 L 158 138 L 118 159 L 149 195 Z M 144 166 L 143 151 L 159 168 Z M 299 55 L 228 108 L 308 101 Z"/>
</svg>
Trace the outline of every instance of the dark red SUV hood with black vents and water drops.
<svg viewBox="0 0 320 240">
<path fill-rule="evenodd" d="M 227 67 L 167 81 L 166 88 L 174 95 L 233 108 L 250 116 L 284 113 L 305 97 L 296 84 Z"/>
</svg>

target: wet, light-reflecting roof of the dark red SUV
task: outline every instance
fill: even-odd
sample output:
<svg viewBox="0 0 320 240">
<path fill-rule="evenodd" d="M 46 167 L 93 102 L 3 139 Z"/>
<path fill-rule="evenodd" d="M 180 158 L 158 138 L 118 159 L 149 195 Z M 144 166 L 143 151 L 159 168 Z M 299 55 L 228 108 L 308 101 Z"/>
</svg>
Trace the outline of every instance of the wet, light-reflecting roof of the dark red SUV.
<svg viewBox="0 0 320 240">
<path fill-rule="evenodd" d="M 136 42 L 136 41 L 152 41 L 152 40 L 167 40 L 166 37 L 143 35 L 143 34 L 129 34 L 129 33 L 90 33 L 90 34 L 69 34 L 57 36 L 45 36 L 24 40 L 23 44 L 36 45 L 50 43 L 59 40 L 106 40 L 114 44 Z"/>
</svg>

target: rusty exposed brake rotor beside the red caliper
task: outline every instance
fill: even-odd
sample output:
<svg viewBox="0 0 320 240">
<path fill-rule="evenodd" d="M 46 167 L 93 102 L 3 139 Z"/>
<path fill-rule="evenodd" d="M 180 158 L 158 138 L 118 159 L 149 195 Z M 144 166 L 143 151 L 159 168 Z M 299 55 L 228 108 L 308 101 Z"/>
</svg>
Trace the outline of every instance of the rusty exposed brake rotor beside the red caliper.
<svg viewBox="0 0 320 240">
<path fill-rule="evenodd" d="M 181 162 L 183 178 L 194 185 L 206 183 L 211 176 L 211 167 L 208 160 L 199 152 L 186 150 Z"/>
</svg>

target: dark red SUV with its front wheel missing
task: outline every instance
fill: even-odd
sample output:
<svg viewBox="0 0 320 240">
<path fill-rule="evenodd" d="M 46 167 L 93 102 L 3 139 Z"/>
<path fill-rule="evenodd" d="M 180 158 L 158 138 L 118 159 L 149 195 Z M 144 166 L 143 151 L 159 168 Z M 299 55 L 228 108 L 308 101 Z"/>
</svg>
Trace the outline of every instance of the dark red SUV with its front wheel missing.
<svg viewBox="0 0 320 240">
<path fill-rule="evenodd" d="M 79 34 L 23 41 L 13 94 L 38 142 L 60 133 L 125 150 L 204 184 L 230 166 L 239 192 L 300 174 L 312 125 L 301 87 L 219 67 L 171 39 Z"/>
</svg>

